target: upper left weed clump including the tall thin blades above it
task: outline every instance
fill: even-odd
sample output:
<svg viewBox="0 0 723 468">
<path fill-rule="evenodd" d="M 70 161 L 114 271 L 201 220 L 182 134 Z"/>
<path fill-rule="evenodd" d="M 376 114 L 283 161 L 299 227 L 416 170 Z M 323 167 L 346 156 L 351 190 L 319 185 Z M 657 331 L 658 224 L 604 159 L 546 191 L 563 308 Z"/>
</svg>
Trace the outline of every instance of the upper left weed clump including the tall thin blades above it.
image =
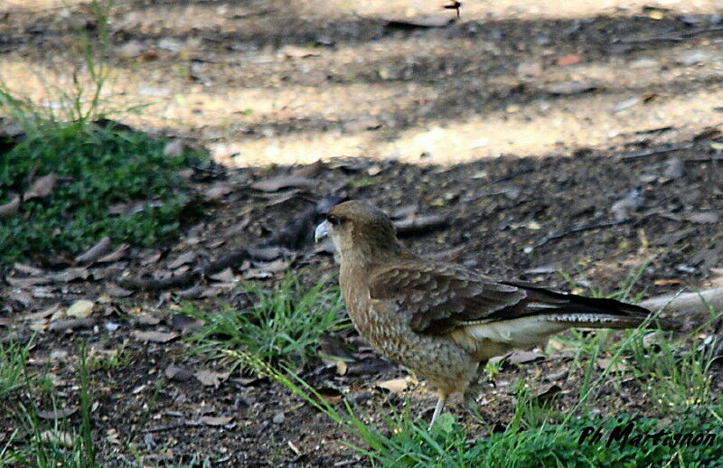
<svg viewBox="0 0 723 468">
<path fill-rule="evenodd" d="M 48 89 L 59 109 L 36 104 L 0 80 L 0 114 L 25 137 L 0 150 L 0 205 L 23 202 L 0 223 L 0 266 L 33 254 L 75 255 L 104 236 L 149 245 L 174 236 L 190 192 L 178 176 L 198 152 L 164 155 L 166 142 L 118 126 L 106 117 L 137 108 L 103 108 L 108 80 L 109 4 L 91 2 L 98 37 L 81 44 L 88 80 Z M 37 196 L 31 187 L 44 176 Z M 37 191 L 36 191 L 37 192 Z"/>
</svg>

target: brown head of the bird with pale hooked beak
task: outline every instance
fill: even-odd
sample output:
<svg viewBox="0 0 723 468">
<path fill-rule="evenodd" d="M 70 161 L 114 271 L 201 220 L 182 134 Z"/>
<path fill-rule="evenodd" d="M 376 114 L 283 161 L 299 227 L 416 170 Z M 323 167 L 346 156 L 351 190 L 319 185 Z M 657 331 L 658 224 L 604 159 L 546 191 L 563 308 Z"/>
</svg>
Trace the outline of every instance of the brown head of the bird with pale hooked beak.
<svg viewBox="0 0 723 468">
<path fill-rule="evenodd" d="M 344 201 L 326 213 L 316 227 L 315 239 L 330 237 L 336 251 L 345 259 L 399 254 L 401 245 L 389 217 L 366 201 Z"/>
</svg>

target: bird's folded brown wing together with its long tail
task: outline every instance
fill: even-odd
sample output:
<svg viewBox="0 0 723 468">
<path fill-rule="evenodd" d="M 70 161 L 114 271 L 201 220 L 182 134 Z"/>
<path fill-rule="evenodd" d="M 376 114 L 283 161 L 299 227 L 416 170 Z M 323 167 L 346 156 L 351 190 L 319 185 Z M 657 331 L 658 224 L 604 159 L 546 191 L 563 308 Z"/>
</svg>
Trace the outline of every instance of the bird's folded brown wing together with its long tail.
<svg viewBox="0 0 723 468">
<path fill-rule="evenodd" d="M 521 282 L 498 282 L 449 264 L 409 261 L 380 268 L 370 278 L 371 299 L 392 300 L 410 315 L 415 332 L 443 334 L 477 323 L 540 316 L 568 326 L 631 328 L 650 311 L 613 299 L 559 293 Z M 656 320 L 665 329 L 674 323 Z"/>
</svg>

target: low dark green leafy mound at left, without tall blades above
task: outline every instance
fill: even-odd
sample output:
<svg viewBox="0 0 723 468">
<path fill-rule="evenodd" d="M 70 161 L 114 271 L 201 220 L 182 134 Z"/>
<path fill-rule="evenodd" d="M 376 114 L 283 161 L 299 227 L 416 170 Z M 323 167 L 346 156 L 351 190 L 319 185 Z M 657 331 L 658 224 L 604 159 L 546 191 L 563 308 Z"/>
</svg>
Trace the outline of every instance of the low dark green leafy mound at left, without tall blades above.
<svg viewBox="0 0 723 468">
<path fill-rule="evenodd" d="M 75 122 L 44 127 L 14 146 L 0 159 L 0 203 L 26 192 L 31 178 L 55 173 L 59 183 L 3 220 L 0 263 L 41 252 L 78 254 L 104 236 L 140 245 L 174 236 L 189 190 L 177 175 L 184 157 L 165 156 L 164 145 L 139 132 Z M 111 214 L 117 204 L 128 212 Z"/>
</svg>

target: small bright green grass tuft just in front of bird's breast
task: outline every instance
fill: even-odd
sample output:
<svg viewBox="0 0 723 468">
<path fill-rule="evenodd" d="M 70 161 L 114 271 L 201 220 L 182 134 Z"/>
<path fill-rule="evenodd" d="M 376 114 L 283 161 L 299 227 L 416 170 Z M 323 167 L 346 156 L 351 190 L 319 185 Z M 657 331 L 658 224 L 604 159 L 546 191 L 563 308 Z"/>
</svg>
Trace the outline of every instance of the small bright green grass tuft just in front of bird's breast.
<svg viewBox="0 0 723 468">
<path fill-rule="evenodd" d="M 341 330 L 343 302 L 338 287 L 324 282 L 305 289 L 288 275 L 272 290 L 245 285 L 252 305 L 245 310 L 226 307 L 219 313 L 205 313 L 186 306 L 184 314 L 201 319 L 202 330 L 192 336 L 199 351 L 214 357 L 221 351 L 245 351 L 272 365 L 300 367 L 315 355 L 325 332 Z M 244 360 L 234 368 L 249 370 Z"/>
</svg>

